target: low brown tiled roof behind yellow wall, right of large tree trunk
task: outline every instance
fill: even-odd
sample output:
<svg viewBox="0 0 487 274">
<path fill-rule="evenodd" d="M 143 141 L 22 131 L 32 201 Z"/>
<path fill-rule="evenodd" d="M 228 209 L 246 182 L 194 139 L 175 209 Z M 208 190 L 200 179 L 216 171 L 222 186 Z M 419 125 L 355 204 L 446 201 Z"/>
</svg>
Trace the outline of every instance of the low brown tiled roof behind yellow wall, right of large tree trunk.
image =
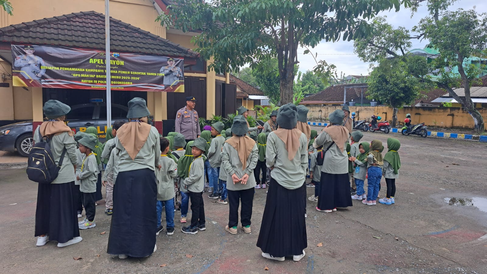
<svg viewBox="0 0 487 274">
<path fill-rule="evenodd" d="M 343 103 L 343 93 L 345 92 L 345 86 L 347 87 L 347 98 L 346 101 L 350 102 L 352 99 L 357 101 L 356 98 L 361 98 L 362 88 L 355 88 L 354 86 L 363 86 L 366 84 L 344 84 L 329 86 L 323 91 L 318 92 L 315 95 L 304 98 L 303 104 L 307 101 L 328 101 L 328 102 L 342 102 Z M 363 88 L 363 97 L 368 95 L 367 88 Z"/>
</svg>

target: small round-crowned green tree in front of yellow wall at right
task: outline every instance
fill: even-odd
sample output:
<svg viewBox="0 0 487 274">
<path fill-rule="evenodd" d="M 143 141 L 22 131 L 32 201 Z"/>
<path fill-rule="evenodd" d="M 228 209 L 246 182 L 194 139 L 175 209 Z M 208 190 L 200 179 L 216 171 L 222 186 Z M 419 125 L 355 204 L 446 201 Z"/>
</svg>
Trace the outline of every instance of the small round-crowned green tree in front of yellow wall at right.
<svg viewBox="0 0 487 274">
<path fill-rule="evenodd" d="M 408 73 L 401 59 L 381 59 L 369 78 L 367 98 L 384 102 L 393 108 L 393 127 L 397 124 L 397 111 L 419 98 L 419 80 Z"/>
</svg>

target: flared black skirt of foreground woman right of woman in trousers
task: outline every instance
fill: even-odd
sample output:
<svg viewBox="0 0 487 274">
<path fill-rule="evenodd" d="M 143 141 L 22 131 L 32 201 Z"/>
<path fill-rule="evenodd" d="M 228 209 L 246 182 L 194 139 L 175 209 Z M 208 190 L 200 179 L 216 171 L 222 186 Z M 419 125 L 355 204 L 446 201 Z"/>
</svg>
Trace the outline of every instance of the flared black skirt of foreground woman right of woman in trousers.
<svg viewBox="0 0 487 274">
<path fill-rule="evenodd" d="M 306 186 L 290 190 L 273 178 L 270 182 L 257 246 L 275 257 L 303 254 L 308 246 L 302 198 Z"/>
</svg>

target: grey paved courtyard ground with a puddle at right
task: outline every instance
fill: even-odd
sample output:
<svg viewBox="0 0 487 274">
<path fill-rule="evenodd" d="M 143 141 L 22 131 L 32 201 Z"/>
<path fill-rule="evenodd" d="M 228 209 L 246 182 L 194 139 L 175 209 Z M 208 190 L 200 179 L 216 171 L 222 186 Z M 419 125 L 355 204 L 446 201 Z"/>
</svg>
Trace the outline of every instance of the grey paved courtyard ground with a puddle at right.
<svg viewBox="0 0 487 274">
<path fill-rule="evenodd" d="M 363 140 L 377 138 L 386 146 L 387 137 L 401 141 L 396 203 L 365 206 L 354 200 L 353 207 L 323 213 L 308 201 L 308 248 L 300 262 L 264 259 L 256 247 L 266 196 L 262 189 L 256 190 L 249 235 L 226 233 L 228 205 L 205 198 L 206 231 L 181 233 L 176 212 L 174 235 L 157 236 L 154 254 L 121 260 L 106 253 L 111 217 L 103 214 L 102 202 L 96 227 L 80 232 L 83 241 L 65 248 L 55 242 L 36 247 L 37 184 L 27 179 L 22 165 L 0 166 L 1 272 L 487 273 L 487 144 L 370 132 Z M 381 197 L 385 190 L 382 179 Z M 310 196 L 314 189 L 307 192 Z"/>
</svg>

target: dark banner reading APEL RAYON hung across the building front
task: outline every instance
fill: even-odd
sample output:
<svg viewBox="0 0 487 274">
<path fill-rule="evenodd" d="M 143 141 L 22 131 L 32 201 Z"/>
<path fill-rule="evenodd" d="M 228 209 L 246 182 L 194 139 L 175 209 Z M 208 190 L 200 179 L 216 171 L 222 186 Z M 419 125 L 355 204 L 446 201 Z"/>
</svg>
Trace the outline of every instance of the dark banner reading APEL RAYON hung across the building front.
<svg viewBox="0 0 487 274">
<path fill-rule="evenodd" d="M 106 89 L 105 52 L 61 46 L 12 45 L 13 85 Z M 184 92 L 184 60 L 110 53 L 112 90 Z"/>
</svg>

